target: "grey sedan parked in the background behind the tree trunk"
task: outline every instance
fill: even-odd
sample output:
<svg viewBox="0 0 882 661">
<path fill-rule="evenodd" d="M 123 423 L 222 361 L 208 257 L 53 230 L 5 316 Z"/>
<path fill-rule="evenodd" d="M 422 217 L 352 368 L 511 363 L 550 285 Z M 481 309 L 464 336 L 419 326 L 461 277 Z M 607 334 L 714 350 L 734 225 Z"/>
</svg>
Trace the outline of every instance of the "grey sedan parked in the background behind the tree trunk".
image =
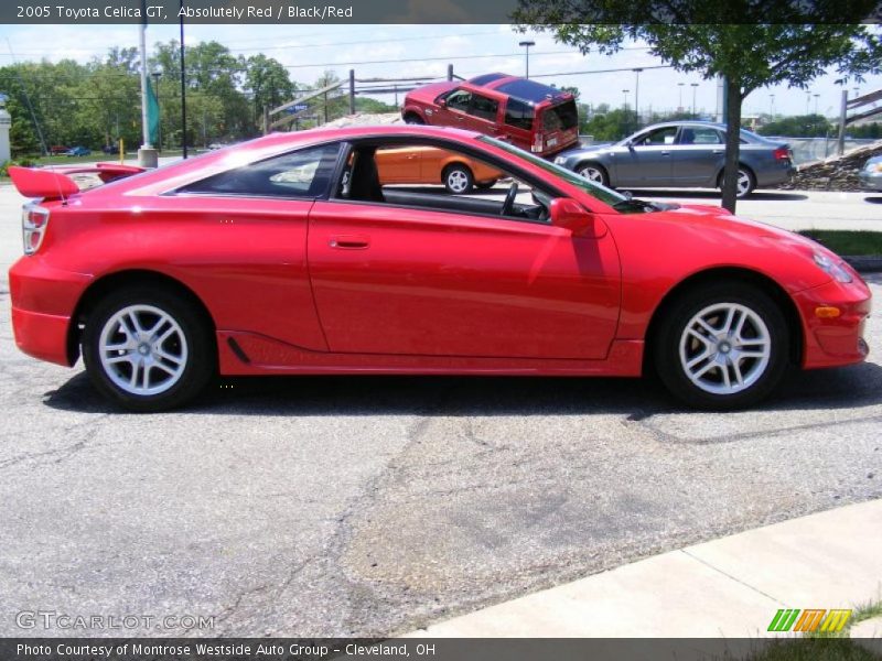
<svg viewBox="0 0 882 661">
<path fill-rule="evenodd" d="M 786 182 L 796 173 L 793 152 L 741 130 L 738 196 Z M 555 159 L 582 176 L 614 188 L 722 186 L 725 124 L 676 121 L 646 127 L 614 144 L 567 150 Z"/>
</svg>

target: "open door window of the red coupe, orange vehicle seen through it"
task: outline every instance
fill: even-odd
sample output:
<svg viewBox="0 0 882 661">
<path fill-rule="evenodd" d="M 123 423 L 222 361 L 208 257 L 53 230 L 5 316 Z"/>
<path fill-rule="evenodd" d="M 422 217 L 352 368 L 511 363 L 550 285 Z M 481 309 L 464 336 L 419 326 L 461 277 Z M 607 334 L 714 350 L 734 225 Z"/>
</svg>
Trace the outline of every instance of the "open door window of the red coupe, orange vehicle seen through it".
<svg viewBox="0 0 882 661">
<path fill-rule="evenodd" d="M 454 145 L 420 140 L 352 147 L 337 199 L 549 223 L 552 195 Z"/>
</svg>

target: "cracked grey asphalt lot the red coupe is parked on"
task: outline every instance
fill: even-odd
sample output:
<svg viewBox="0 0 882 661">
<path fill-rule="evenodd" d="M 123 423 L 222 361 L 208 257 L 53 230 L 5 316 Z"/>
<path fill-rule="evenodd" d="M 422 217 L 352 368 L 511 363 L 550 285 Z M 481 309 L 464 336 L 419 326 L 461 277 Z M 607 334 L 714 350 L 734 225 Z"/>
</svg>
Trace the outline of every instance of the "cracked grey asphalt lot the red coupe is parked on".
<svg viewBox="0 0 882 661">
<path fill-rule="evenodd" d="M 756 203 L 836 208 L 814 195 Z M 882 497 L 878 314 L 867 364 L 727 415 L 648 381 L 373 377 L 227 380 L 185 411 L 123 414 L 82 364 L 14 347 L 20 204 L 0 187 L 0 636 L 72 632 L 20 611 L 214 617 L 133 636 L 386 636 Z"/>
</svg>

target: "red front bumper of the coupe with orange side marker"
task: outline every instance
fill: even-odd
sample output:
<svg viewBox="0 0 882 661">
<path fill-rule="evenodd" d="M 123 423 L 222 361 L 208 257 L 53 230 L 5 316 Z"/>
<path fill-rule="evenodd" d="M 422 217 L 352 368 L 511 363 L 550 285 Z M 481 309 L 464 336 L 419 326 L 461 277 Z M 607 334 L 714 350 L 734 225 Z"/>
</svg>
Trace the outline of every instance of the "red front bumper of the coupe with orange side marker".
<svg viewBox="0 0 882 661">
<path fill-rule="evenodd" d="M 794 294 L 803 321 L 804 368 L 838 367 L 867 358 L 870 348 L 863 333 L 872 294 L 857 273 L 852 275 L 850 283 L 830 281 Z M 831 307 L 839 311 L 838 316 L 818 315 L 818 308 Z"/>
</svg>

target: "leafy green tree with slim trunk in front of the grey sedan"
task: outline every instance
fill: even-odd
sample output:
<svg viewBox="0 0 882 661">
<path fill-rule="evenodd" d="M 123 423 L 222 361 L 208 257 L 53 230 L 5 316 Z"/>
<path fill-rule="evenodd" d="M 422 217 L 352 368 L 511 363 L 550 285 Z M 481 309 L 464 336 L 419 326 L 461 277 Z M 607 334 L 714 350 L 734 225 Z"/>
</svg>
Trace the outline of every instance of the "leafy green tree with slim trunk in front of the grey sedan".
<svg viewBox="0 0 882 661">
<path fill-rule="evenodd" d="M 741 106 L 753 90 L 787 84 L 806 88 L 827 69 L 841 82 L 876 73 L 882 63 L 879 33 L 860 21 L 874 0 L 519 0 L 521 30 L 544 30 L 584 54 L 620 51 L 626 40 L 643 41 L 649 53 L 680 72 L 725 79 L 725 121 L 741 126 Z M 727 131 L 722 205 L 735 208 L 739 133 Z"/>
</svg>

